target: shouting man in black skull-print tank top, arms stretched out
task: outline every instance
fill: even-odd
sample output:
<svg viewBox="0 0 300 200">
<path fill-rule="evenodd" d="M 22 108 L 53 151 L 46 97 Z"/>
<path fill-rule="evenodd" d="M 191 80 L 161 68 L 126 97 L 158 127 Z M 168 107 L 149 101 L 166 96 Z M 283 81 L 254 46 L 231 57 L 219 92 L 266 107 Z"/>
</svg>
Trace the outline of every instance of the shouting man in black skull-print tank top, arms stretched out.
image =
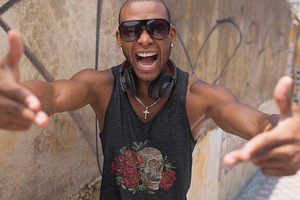
<svg viewBox="0 0 300 200">
<path fill-rule="evenodd" d="M 228 89 L 177 69 L 169 60 L 176 43 L 170 21 L 161 0 L 126 1 L 116 32 L 126 61 L 52 83 L 19 83 L 23 46 L 10 31 L 10 49 L 0 66 L 0 127 L 44 127 L 54 113 L 91 105 L 105 158 L 101 199 L 186 199 L 195 140 L 209 118 L 223 130 L 251 139 L 224 158 L 226 165 L 252 161 L 265 175 L 295 174 L 300 168 L 300 114 L 287 99 L 291 79 L 283 77 L 274 91 L 278 123 L 279 116 L 243 105 Z"/>
</svg>

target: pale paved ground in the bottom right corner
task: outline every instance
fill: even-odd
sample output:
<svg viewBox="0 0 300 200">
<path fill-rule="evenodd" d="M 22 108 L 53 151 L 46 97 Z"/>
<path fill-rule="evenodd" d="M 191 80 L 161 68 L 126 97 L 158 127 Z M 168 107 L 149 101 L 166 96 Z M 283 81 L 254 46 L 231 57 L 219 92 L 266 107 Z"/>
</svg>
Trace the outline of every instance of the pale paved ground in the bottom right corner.
<svg viewBox="0 0 300 200">
<path fill-rule="evenodd" d="M 300 171 L 282 178 L 258 172 L 237 200 L 300 200 Z"/>
</svg>

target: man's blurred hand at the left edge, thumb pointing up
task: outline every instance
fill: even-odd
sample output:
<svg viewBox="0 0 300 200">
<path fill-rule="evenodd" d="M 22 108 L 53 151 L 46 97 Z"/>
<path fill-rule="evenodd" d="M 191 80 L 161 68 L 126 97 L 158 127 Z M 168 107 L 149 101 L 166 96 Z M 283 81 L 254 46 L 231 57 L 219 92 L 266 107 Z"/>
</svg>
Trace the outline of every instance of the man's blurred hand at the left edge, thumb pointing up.
<svg viewBox="0 0 300 200">
<path fill-rule="evenodd" d="M 24 47 L 15 31 L 8 33 L 9 50 L 0 61 L 0 128 L 27 130 L 32 123 L 44 127 L 48 116 L 41 111 L 38 98 L 19 84 L 19 62 Z"/>
</svg>

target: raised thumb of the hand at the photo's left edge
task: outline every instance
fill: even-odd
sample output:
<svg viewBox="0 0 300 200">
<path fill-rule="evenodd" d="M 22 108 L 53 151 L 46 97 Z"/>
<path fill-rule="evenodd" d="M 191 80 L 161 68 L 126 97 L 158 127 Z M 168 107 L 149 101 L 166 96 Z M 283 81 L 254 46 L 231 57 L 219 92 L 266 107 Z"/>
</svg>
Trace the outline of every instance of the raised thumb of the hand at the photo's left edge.
<svg viewBox="0 0 300 200">
<path fill-rule="evenodd" d="M 12 67 L 17 67 L 24 52 L 24 46 L 21 36 L 17 32 L 10 30 L 8 32 L 8 42 L 8 64 L 10 64 Z"/>
</svg>

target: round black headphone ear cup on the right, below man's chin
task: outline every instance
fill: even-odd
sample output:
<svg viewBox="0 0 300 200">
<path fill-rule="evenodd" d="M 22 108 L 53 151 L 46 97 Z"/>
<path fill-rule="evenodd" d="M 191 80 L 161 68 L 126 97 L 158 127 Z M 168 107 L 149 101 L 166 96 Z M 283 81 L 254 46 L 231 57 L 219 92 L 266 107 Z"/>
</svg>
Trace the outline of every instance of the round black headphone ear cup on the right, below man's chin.
<svg viewBox="0 0 300 200">
<path fill-rule="evenodd" d="M 171 77 L 167 73 L 161 73 L 156 79 L 154 79 L 148 89 L 148 96 L 154 100 L 159 99 L 160 97 L 166 97 L 172 87 L 170 87 Z"/>
</svg>

